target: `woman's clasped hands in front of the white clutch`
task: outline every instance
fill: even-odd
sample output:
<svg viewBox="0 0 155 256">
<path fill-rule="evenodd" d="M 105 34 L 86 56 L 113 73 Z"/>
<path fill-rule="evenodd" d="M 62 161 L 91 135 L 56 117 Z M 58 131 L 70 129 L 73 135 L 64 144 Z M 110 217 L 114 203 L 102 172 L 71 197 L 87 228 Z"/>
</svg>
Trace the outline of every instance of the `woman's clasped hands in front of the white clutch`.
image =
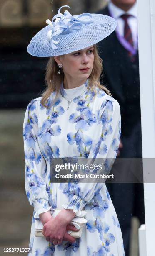
<svg viewBox="0 0 155 256">
<path fill-rule="evenodd" d="M 43 212 L 40 214 L 40 220 L 44 225 L 42 234 L 48 242 L 54 245 L 60 245 L 62 241 L 75 242 L 75 238 L 70 236 L 67 231 L 78 231 L 70 221 L 75 217 L 75 212 L 69 209 L 62 209 L 55 218 L 52 217 L 50 212 Z"/>
</svg>

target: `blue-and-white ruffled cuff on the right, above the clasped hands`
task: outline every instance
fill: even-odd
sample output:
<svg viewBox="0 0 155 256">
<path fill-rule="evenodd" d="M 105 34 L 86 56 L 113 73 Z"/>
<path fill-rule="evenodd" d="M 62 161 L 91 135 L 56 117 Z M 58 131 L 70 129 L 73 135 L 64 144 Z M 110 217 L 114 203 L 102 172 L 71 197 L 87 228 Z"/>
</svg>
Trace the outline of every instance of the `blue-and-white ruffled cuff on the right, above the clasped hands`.
<svg viewBox="0 0 155 256">
<path fill-rule="evenodd" d="M 86 204 L 87 202 L 84 199 L 74 195 L 72 200 L 70 200 L 67 204 L 63 204 L 62 207 L 65 209 L 73 210 L 77 217 L 82 217 L 81 210 L 85 207 Z"/>
</svg>

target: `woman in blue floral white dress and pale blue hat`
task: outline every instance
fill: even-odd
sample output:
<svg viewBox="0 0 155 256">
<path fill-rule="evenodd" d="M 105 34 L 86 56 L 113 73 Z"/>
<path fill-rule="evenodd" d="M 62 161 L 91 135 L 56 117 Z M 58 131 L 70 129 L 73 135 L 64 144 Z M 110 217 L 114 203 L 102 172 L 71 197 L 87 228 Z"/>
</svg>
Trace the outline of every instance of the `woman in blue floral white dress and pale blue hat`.
<svg viewBox="0 0 155 256">
<path fill-rule="evenodd" d="M 105 15 L 72 16 L 60 10 L 28 46 L 34 56 L 50 56 L 47 90 L 29 103 L 24 120 L 25 187 L 34 207 L 29 255 L 123 256 L 120 225 L 105 183 L 50 182 L 50 159 L 100 158 L 110 168 L 120 140 L 120 107 L 100 85 L 102 61 L 95 46 L 116 22 Z M 55 218 L 53 209 L 60 209 Z M 75 239 L 67 230 L 78 231 L 70 222 L 83 210 L 87 224 Z M 44 225 L 45 237 L 35 237 L 36 220 Z"/>
</svg>

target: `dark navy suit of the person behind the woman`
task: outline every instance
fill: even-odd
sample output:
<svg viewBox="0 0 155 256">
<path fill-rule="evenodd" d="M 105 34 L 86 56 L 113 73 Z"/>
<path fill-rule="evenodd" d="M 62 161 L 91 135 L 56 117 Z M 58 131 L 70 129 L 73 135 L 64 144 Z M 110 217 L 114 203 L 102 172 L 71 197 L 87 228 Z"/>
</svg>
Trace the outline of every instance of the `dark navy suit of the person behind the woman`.
<svg viewBox="0 0 155 256">
<path fill-rule="evenodd" d="M 110 15 L 107 7 L 97 13 Z M 120 150 L 120 158 L 141 158 L 142 136 L 138 53 L 135 56 L 135 62 L 132 63 L 128 56 L 128 51 L 120 44 L 115 31 L 98 43 L 98 47 L 103 60 L 104 77 L 102 82 L 110 90 L 112 97 L 120 104 L 122 120 L 121 139 L 123 143 L 123 148 Z M 128 179 L 130 171 L 132 173 L 134 171 L 135 174 L 139 172 L 140 181 L 143 182 L 143 167 L 137 167 L 137 161 L 134 164 L 130 160 L 125 163 L 124 166 L 122 161 L 122 166 L 120 165 L 117 168 L 120 172 L 121 167 L 121 175 L 125 173 Z M 137 176 L 135 178 L 134 175 L 132 176 L 132 173 L 130 178 L 133 178 L 136 182 Z M 145 223 L 143 184 L 131 183 L 120 185 L 107 184 L 107 188 L 112 197 L 112 202 L 122 228 L 125 255 L 128 255 L 131 216 L 138 216 L 140 222 Z M 121 200 L 118 200 L 119 198 Z M 123 202 L 128 202 L 128 207 L 124 207 Z"/>
</svg>

